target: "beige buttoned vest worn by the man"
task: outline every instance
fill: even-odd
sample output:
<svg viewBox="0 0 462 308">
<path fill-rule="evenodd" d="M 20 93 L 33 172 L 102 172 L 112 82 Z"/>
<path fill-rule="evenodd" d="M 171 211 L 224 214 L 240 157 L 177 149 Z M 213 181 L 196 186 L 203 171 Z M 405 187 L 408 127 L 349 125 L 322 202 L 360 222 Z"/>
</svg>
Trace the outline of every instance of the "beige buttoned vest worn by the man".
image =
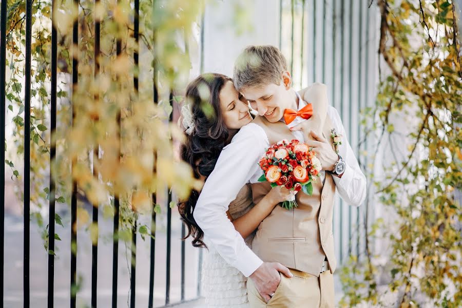
<svg viewBox="0 0 462 308">
<path fill-rule="evenodd" d="M 306 94 L 303 98 L 306 99 Z M 315 118 L 315 103 L 313 108 L 315 112 L 313 118 Z M 269 123 L 264 117 L 257 116 L 253 123 L 263 128 L 269 144 L 282 139 L 294 139 L 292 132 L 283 122 Z M 315 121 L 312 123 L 316 125 Z M 329 116 L 325 115 L 322 132 L 331 144 L 332 127 Z M 319 127 L 313 129 L 319 132 Z M 269 189 L 271 186 L 268 182 L 252 184 L 254 203 L 257 204 Z M 252 250 L 264 262 L 279 262 L 289 268 L 315 276 L 319 276 L 326 256 L 331 273 L 334 273 L 337 264 L 332 232 L 334 195 L 334 180 L 332 175 L 326 172 L 324 184 L 321 183 L 320 178 L 313 183 L 312 196 L 304 194 L 303 191 L 298 192 L 296 208 L 287 210 L 279 205 L 274 208 L 258 226 Z"/>
</svg>

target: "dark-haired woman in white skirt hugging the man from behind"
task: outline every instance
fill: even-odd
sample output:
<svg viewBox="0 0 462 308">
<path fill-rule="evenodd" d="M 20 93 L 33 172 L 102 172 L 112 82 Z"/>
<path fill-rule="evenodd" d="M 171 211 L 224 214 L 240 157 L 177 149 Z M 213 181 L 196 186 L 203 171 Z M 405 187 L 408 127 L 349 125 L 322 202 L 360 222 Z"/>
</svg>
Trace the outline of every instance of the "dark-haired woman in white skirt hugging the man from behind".
<svg viewBox="0 0 462 308">
<path fill-rule="evenodd" d="M 204 91 L 208 91 L 206 100 L 203 99 Z M 196 178 L 206 181 L 223 147 L 231 142 L 241 127 L 253 120 L 252 114 L 232 80 L 217 73 L 202 74 L 187 86 L 182 113 L 187 135 L 181 147 L 182 159 L 191 165 Z M 247 278 L 226 263 L 212 245 L 207 245 L 204 233 L 192 216 L 199 194 L 200 191 L 192 191 L 187 200 L 178 203 L 178 208 L 188 228 L 185 238 L 191 236 L 195 247 L 208 248 L 202 275 L 207 306 L 248 307 Z M 246 184 L 229 204 L 226 214 L 249 245 L 260 222 L 292 194 L 290 190 L 276 186 L 254 204 L 251 187 Z"/>
</svg>

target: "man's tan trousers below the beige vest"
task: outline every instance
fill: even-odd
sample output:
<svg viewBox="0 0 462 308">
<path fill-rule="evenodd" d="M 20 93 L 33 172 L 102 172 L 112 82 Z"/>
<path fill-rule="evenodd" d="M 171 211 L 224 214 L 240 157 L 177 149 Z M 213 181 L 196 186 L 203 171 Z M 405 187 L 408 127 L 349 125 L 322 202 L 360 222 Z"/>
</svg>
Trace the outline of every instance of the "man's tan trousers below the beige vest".
<svg viewBox="0 0 462 308">
<path fill-rule="evenodd" d="M 319 277 L 291 269 L 293 278 L 281 274 L 281 282 L 271 300 L 265 303 L 252 279 L 247 280 L 247 296 L 251 308 L 333 308 L 334 276 L 325 271 Z"/>
</svg>

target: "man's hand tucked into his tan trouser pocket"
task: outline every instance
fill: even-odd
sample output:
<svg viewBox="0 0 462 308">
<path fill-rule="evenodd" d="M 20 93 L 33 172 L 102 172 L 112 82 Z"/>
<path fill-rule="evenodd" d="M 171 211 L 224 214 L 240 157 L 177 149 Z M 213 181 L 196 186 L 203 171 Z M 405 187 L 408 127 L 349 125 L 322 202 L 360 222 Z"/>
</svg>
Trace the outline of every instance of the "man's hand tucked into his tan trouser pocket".
<svg viewBox="0 0 462 308">
<path fill-rule="evenodd" d="M 279 272 L 287 278 L 292 278 L 291 271 L 280 263 L 263 262 L 257 270 L 249 276 L 255 284 L 258 293 L 263 297 L 265 302 L 271 299 L 271 295 L 276 292 L 276 289 L 281 282 Z"/>
</svg>

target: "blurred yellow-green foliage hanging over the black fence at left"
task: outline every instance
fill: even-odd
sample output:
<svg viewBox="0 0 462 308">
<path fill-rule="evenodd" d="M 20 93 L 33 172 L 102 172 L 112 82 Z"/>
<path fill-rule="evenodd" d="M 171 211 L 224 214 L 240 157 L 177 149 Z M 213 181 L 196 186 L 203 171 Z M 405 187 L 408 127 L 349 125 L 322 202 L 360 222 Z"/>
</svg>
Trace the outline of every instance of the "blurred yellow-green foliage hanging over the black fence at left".
<svg viewBox="0 0 462 308">
<path fill-rule="evenodd" d="M 107 217 L 120 201 L 120 236 L 131 235 L 138 214 L 160 212 L 153 194 L 166 200 L 172 189 L 184 198 L 191 187 L 200 189 L 186 163 L 176 159 L 174 142 L 183 132 L 169 121 L 173 91 L 184 87 L 191 68 L 188 48 L 197 49 L 195 32 L 203 11 L 201 1 L 140 1 L 139 24 L 133 3 L 69 0 L 32 3 L 30 166 L 31 209 L 40 225 L 49 199 L 70 203 L 72 182 L 79 196 L 99 206 Z M 24 155 L 25 11 L 23 0 L 8 0 L 7 111 L 14 122 L 6 164 L 23 196 L 22 172 L 16 165 Z M 52 18 L 54 15 L 54 18 Z M 54 23 L 52 23 L 54 21 Z M 100 35 L 95 32 L 100 24 Z M 51 127 L 52 26 L 56 29 L 56 129 Z M 139 27 L 139 38 L 136 37 Z M 78 44 L 73 43 L 76 33 Z M 197 35 L 196 35 L 197 36 Z M 99 40 L 97 40 L 99 38 Z M 100 52 L 95 56 L 95 48 Z M 195 45 L 194 45 L 195 44 Z M 139 55 L 140 65 L 134 61 Z M 75 69 L 74 69 L 75 68 Z M 77 69 L 78 68 L 78 69 Z M 77 82 L 73 82 L 72 74 Z M 75 78 L 75 76 L 74 76 Z M 51 172 L 56 190 L 50 191 L 50 152 L 56 155 Z M 158 191 L 157 191 L 158 190 Z M 97 228 L 79 202 L 80 226 Z M 56 223 L 62 225 L 59 215 Z M 75 226 L 74 226 L 75 227 Z M 138 231 L 150 235 L 150 226 Z M 48 233 L 44 232 L 45 248 Z M 59 236 L 55 235 L 59 240 Z M 49 252 L 54 254 L 54 252 Z"/>
</svg>

